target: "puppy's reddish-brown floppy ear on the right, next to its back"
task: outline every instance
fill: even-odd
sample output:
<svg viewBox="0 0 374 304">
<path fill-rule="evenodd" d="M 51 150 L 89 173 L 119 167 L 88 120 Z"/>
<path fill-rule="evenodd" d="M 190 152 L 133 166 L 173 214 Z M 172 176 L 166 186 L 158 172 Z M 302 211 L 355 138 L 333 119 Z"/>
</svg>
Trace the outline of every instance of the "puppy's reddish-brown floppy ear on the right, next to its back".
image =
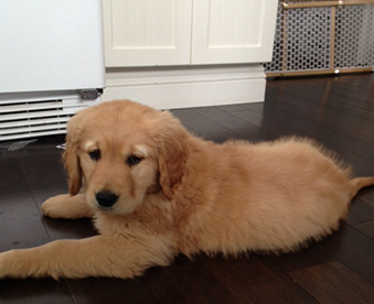
<svg viewBox="0 0 374 304">
<path fill-rule="evenodd" d="M 169 112 L 162 112 L 165 118 L 165 129 L 161 134 L 159 146 L 160 185 L 168 197 L 172 199 L 177 188 L 182 183 L 189 158 L 188 132 L 178 119 Z M 164 121 L 162 121 L 164 123 Z"/>
</svg>

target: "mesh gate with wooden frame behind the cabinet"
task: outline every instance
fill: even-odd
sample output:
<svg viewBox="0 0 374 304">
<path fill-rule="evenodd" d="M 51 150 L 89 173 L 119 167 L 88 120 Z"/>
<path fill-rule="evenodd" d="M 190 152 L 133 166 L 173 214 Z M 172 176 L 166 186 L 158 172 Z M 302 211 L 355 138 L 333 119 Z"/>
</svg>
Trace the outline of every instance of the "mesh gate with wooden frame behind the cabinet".
<svg viewBox="0 0 374 304">
<path fill-rule="evenodd" d="M 316 2 L 288 1 L 287 3 Z M 279 1 L 267 73 L 374 66 L 374 4 L 284 9 Z M 331 41 L 331 31 L 335 40 Z M 331 58 L 331 45 L 334 56 Z"/>
</svg>

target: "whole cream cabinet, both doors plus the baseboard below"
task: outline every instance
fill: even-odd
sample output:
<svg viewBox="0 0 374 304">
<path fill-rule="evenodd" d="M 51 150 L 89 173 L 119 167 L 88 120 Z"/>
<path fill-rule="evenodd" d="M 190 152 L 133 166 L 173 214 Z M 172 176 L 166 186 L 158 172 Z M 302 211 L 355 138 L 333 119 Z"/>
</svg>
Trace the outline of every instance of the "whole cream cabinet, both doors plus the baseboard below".
<svg viewBox="0 0 374 304">
<path fill-rule="evenodd" d="M 278 0 L 103 0 L 107 88 L 157 108 L 263 101 Z M 175 100 L 175 101 L 173 101 Z"/>
</svg>

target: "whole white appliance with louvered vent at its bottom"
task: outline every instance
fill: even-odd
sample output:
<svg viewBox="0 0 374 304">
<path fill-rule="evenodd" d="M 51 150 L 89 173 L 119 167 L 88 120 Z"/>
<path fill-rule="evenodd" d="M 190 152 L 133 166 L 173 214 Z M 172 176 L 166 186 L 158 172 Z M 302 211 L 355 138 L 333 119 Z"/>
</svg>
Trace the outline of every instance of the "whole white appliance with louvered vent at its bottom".
<svg viewBox="0 0 374 304">
<path fill-rule="evenodd" d="M 0 1 L 0 141 L 58 134 L 105 87 L 100 0 Z"/>
</svg>

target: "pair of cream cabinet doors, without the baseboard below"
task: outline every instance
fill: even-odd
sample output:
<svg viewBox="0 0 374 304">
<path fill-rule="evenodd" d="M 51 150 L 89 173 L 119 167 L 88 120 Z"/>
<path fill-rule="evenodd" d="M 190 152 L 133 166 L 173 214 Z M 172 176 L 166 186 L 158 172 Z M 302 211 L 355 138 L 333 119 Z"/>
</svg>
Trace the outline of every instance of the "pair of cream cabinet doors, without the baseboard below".
<svg viewBox="0 0 374 304">
<path fill-rule="evenodd" d="M 108 67 L 271 59 L 277 0 L 104 0 Z"/>
</svg>

